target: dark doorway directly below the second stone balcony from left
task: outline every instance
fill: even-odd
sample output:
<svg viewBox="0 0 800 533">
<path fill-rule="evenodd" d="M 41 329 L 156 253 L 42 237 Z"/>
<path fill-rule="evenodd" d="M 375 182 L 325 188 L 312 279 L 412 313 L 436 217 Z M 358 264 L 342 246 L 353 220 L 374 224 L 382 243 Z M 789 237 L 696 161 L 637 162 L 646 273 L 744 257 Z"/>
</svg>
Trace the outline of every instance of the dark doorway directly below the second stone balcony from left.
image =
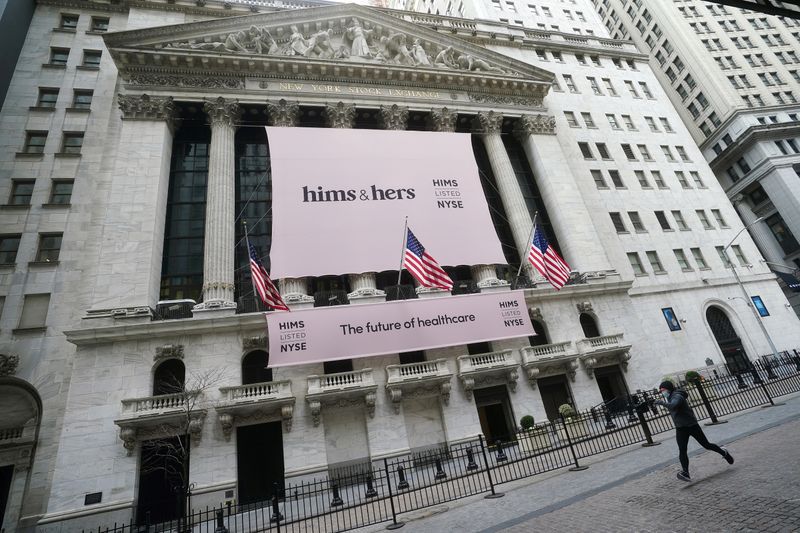
<svg viewBox="0 0 800 533">
<path fill-rule="evenodd" d="M 239 502 L 272 497 L 273 484 L 283 492 L 283 429 L 280 422 L 236 428 Z"/>
</svg>

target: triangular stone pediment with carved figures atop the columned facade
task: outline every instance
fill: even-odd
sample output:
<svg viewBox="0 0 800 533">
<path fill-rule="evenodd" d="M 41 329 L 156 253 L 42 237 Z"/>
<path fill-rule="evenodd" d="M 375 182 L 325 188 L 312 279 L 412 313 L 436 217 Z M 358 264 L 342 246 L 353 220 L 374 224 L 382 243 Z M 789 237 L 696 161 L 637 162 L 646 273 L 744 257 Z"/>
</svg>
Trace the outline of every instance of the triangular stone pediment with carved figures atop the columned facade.
<svg viewBox="0 0 800 533">
<path fill-rule="evenodd" d="M 401 12 L 398 12 L 400 15 Z M 120 74 L 361 79 L 532 97 L 553 75 L 385 10 L 340 4 L 109 33 Z"/>
</svg>

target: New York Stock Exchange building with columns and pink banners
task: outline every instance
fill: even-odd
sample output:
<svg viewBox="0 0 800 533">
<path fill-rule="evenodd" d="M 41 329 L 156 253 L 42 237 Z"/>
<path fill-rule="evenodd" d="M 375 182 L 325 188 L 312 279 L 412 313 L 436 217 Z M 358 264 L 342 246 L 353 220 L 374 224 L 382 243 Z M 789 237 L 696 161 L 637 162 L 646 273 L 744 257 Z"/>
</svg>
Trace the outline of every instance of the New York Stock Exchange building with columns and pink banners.
<svg viewBox="0 0 800 533">
<path fill-rule="evenodd" d="M 647 58 L 597 35 L 38 2 L 0 115 L 5 530 L 174 518 L 170 450 L 192 506 L 260 502 L 746 365 L 771 350 L 728 257 L 800 346 Z M 526 266 L 534 216 L 560 290 Z M 406 224 L 451 291 L 400 270 Z"/>
</svg>

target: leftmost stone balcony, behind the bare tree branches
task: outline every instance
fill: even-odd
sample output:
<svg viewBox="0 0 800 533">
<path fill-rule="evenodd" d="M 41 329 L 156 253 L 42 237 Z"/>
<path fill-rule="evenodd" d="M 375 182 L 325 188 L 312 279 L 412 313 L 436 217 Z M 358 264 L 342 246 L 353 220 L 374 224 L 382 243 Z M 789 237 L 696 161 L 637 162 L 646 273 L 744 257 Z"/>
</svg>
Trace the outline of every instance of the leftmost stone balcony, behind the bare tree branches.
<svg viewBox="0 0 800 533">
<path fill-rule="evenodd" d="M 189 433 L 200 438 L 207 410 L 199 406 L 200 393 L 163 394 L 122 400 L 122 415 L 114 420 L 119 438 L 133 453 L 137 440 Z"/>
</svg>

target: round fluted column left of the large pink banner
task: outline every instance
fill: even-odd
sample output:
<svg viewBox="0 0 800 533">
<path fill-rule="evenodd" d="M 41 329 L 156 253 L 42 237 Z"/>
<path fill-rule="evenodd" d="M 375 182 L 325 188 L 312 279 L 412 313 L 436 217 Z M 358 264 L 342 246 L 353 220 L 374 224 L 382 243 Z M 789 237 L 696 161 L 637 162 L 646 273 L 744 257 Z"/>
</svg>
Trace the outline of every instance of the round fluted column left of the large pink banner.
<svg viewBox="0 0 800 533">
<path fill-rule="evenodd" d="M 203 303 L 195 311 L 236 311 L 233 300 L 236 100 L 208 99 L 203 106 L 211 121 L 206 189 L 206 234 L 203 249 Z"/>
</svg>

